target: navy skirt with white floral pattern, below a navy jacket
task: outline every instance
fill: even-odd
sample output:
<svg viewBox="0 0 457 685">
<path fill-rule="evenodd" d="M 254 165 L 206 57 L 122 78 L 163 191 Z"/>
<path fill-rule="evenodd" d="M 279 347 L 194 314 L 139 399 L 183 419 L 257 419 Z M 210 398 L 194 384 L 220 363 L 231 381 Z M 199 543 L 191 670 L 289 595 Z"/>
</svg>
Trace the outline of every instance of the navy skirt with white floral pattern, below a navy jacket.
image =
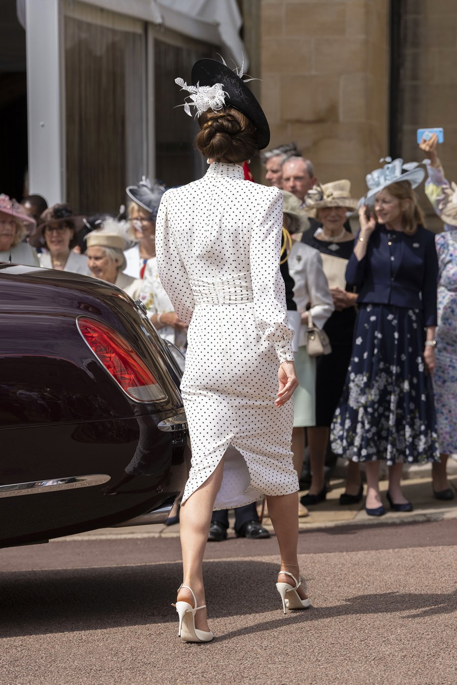
<svg viewBox="0 0 457 685">
<path fill-rule="evenodd" d="M 360 306 L 332 449 L 356 462 L 439 462 L 421 310 Z"/>
</svg>

